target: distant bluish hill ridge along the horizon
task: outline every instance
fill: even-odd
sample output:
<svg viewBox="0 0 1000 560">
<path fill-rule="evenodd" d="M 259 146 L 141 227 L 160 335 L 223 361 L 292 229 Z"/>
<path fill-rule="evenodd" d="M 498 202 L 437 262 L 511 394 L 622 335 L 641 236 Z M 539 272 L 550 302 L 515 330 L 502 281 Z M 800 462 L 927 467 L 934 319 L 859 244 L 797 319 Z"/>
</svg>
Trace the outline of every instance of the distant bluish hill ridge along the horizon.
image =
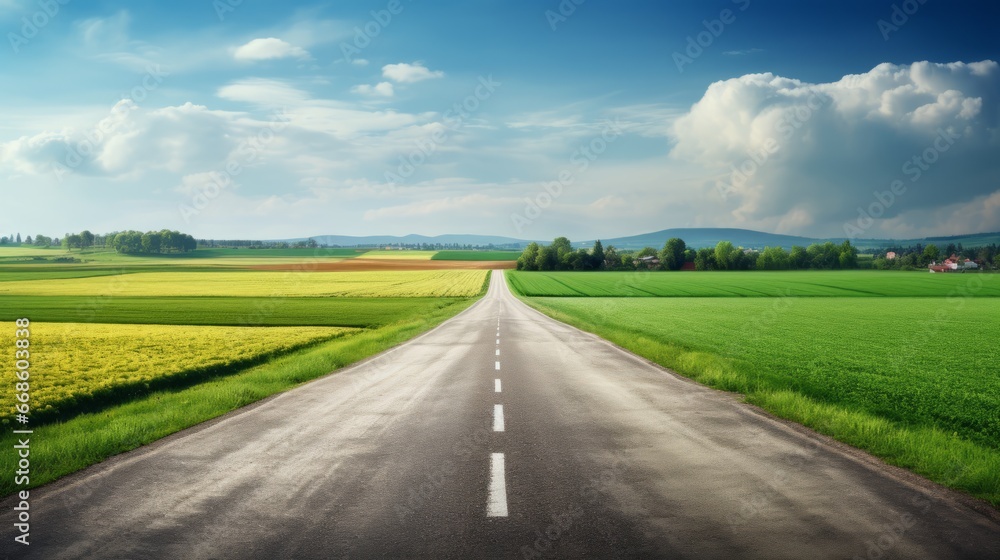
<svg viewBox="0 0 1000 560">
<path fill-rule="evenodd" d="M 831 241 L 833 243 L 843 243 L 844 237 L 831 237 L 831 238 L 816 238 L 816 237 L 802 237 L 798 235 L 783 235 L 778 233 L 767 233 L 763 231 L 754 231 L 750 229 L 739 229 L 739 228 L 671 228 L 664 229 L 660 231 L 643 233 L 639 235 L 631 235 L 626 237 L 612 237 L 612 238 L 600 238 L 601 243 L 604 246 L 614 245 L 619 249 L 641 249 L 643 247 L 654 247 L 661 248 L 663 244 L 667 242 L 671 237 L 679 237 L 687 243 L 688 247 L 700 248 L 700 247 L 714 247 L 720 241 L 729 241 L 737 247 L 746 247 L 750 249 L 762 249 L 764 247 L 784 247 L 786 249 L 791 248 L 792 245 L 802 245 L 808 246 L 812 243 L 824 243 L 826 241 Z M 448 234 L 448 235 L 369 235 L 369 236 L 352 236 L 352 235 L 316 235 L 313 237 L 302 237 L 297 239 L 283 239 L 281 241 L 304 241 L 307 239 L 315 239 L 317 243 L 321 245 L 329 246 L 340 246 L 340 247 L 378 247 L 378 246 L 389 246 L 389 245 L 459 245 L 459 246 L 473 246 L 473 247 L 486 247 L 492 245 L 497 248 L 511 248 L 518 249 L 523 248 L 528 243 L 532 241 L 538 241 L 539 243 L 549 243 L 551 239 L 545 240 L 526 240 L 526 239 L 516 239 L 513 237 L 504 237 L 499 235 L 463 235 L 463 234 Z M 574 241 L 573 245 L 575 247 L 590 247 L 594 244 L 595 239 L 584 240 L 584 241 Z M 947 245 L 949 243 L 954 243 L 956 245 L 962 244 L 967 247 L 989 245 L 991 243 L 1000 244 L 1000 232 L 992 233 L 974 233 L 967 235 L 954 235 L 954 236 L 939 236 L 939 237 L 925 237 L 916 239 L 852 239 L 851 243 L 860 249 L 879 249 L 885 247 L 896 247 L 896 246 L 913 246 L 913 245 L 927 245 L 929 243 L 934 243 L 938 245 Z"/>
</svg>

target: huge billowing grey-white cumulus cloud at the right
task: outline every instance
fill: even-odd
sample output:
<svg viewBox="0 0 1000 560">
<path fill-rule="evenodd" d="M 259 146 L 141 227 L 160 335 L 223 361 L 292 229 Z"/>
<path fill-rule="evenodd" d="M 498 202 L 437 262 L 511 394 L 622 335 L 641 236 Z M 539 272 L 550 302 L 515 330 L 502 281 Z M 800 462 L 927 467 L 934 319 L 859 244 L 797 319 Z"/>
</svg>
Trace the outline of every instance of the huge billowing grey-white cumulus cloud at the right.
<svg viewBox="0 0 1000 560">
<path fill-rule="evenodd" d="M 843 236 L 860 219 L 873 234 L 1000 187 L 998 91 L 989 60 L 880 64 L 822 84 L 745 75 L 711 84 L 674 122 L 671 157 L 713 173 L 706 194 L 741 225 Z M 901 193 L 873 207 L 894 184 Z"/>
</svg>

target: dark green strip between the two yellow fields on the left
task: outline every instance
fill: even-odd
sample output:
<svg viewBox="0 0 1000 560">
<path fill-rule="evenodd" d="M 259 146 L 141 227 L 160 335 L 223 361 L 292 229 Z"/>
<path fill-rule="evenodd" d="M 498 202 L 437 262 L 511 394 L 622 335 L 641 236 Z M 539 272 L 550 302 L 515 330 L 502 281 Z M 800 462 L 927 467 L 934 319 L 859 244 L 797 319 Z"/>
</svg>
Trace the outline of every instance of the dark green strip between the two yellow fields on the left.
<svg viewBox="0 0 1000 560">
<path fill-rule="evenodd" d="M 113 295 L 113 286 L 110 288 Z M 0 296 L 0 321 L 380 327 L 459 298 Z"/>
</svg>

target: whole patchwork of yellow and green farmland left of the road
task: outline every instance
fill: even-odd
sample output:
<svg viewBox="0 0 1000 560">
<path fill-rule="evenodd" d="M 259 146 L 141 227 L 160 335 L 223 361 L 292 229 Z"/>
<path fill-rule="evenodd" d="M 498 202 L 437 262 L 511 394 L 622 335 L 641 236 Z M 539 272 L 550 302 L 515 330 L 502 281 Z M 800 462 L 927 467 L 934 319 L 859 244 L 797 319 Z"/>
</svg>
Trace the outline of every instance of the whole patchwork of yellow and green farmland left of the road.
<svg viewBox="0 0 1000 560">
<path fill-rule="evenodd" d="M 432 253 L 403 252 L 366 260 L 375 271 L 323 271 L 364 253 L 88 250 L 68 260 L 60 249 L 0 248 L 0 321 L 31 319 L 30 422 L 44 440 L 32 448 L 32 486 L 404 342 L 471 305 L 490 274 L 413 270 Z M 0 344 L 12 336 L 0 331 Z M 14 394 L 0 395 L 4 425 Z M 12 490 L 0 481 L 0 493 Z"/>
</svg>

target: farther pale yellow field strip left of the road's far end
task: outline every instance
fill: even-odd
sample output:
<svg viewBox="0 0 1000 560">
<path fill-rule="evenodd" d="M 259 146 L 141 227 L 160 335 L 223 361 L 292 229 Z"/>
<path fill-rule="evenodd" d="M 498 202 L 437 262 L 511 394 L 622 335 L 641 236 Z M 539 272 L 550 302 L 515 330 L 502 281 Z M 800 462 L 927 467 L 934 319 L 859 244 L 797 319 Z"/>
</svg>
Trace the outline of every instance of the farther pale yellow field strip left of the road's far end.
<svg viewBox="0 0 1000 560">
<path fill-rule="evenodd" d="M 381 272 L 140 272 L 0 282 L 0 295 L 473 297 L 486 270 Z"/>
</svg>

